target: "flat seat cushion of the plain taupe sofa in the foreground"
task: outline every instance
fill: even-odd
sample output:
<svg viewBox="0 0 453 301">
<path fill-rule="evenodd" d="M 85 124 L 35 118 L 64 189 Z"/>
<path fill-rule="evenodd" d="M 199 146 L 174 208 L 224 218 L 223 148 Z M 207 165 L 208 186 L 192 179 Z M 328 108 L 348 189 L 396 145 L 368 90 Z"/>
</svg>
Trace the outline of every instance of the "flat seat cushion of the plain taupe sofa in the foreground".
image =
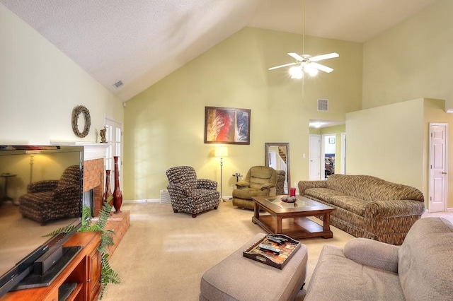
<svg viewBox="0 0 453 301">
<path fill-rule="evenodd" d="M 358 264 L 343 250 L 323 247 L 304 301 L 404 300 L 398 274 Z"/>
</svg>

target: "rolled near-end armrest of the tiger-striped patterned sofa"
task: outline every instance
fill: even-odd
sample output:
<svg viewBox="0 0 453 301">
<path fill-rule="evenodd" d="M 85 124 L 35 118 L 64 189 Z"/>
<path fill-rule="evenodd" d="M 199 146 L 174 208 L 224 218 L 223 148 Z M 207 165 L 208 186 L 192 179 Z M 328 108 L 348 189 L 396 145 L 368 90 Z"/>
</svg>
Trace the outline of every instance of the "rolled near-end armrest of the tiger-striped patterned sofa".
<svg viewBox="0 0 453 301">
<path fill-rule="evenodd" d="M 420 216 L 423 212 L 425 203 L 413 200 L 370 201 L 365 207 L 367 218 Z"/>
</svg>

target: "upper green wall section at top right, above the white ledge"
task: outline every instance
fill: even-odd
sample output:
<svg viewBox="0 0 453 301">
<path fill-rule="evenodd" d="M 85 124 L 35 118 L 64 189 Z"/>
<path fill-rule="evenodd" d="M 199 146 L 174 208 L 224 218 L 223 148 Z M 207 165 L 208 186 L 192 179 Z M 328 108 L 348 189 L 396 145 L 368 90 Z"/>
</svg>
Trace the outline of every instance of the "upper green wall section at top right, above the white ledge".
<svg viewBox="0 0 453 301">
<path fill-rule="evenodd" d="M 440 0 L 365 42 L 363 108 L 418 98 L 452 100 L 453 1 Z"/>
</svg>

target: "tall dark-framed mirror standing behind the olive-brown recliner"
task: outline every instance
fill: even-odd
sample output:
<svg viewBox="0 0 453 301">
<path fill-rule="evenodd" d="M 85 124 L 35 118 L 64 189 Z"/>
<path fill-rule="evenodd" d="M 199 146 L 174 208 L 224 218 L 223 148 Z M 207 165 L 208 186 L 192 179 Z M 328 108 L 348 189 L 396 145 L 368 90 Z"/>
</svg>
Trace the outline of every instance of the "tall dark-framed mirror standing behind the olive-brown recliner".
<svg viewBox="0 0 453 301">
<path fill-rule="evenodd" d="M 289 143 L 264 143 L 266 166 L 273 167 L 274 170 L 285 171 L 285 183 L 283 191 L 277 189 L 277 194 L 288 194 L 291 186 L 289 179 Z"/>
</svg>

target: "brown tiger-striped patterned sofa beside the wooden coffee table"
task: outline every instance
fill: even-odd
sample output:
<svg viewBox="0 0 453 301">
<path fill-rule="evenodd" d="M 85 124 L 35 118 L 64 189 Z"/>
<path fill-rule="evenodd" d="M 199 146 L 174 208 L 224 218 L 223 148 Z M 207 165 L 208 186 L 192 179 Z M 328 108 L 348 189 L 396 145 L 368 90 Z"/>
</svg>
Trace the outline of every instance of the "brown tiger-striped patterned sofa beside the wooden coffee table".
<svg viewBox="0 0 453 301">
<path fill-rule="evenodd" d="M 335 208 L 331 225 L 388 244 L 402 244 L 425 212 L 420 190 L 368 175 L 336 174 L 326 181 L 300 181 L 298 186 L 301 196 Z"/>
</svg>

